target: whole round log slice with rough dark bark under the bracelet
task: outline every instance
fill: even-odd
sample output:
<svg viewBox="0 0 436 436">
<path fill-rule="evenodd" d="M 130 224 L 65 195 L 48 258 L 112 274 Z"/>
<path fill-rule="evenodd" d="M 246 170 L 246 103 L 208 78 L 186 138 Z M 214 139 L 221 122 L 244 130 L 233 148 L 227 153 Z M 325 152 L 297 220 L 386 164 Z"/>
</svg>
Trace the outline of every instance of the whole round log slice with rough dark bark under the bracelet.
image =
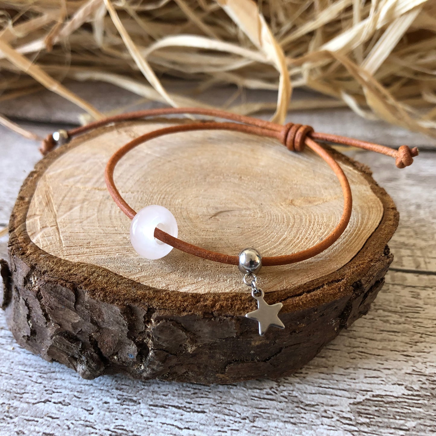
<svg viewBox="0 0 436 436">
<path fill-rule="evenodd" d="M 140 258 L 130 221 L 110 198 L 109 156 L 176 120 L 123 123 L 79 136 L 27 177 L 10 219 L 2 306 L 17 342 L 84 378 L 124 373 L 201 383 L 288 375 L 368 311 L 392 262 L 398 224 L 367 167 L 334 152 L 350 180 L 353 213 L 320 255 L 259 275 L 268 303 L 283 302 L 284 330 L 264 337 L 245 318 L 255 300 L 237 267 L 173 250 Z M 333 172 L 310 150 L 225 131 L 177 133 L 137 147 L 115 172 L 139 210 L 173 212 L 179 237 L 219 252 L 263 255 L 317 243 L 342 212 Z"/>
</svg>

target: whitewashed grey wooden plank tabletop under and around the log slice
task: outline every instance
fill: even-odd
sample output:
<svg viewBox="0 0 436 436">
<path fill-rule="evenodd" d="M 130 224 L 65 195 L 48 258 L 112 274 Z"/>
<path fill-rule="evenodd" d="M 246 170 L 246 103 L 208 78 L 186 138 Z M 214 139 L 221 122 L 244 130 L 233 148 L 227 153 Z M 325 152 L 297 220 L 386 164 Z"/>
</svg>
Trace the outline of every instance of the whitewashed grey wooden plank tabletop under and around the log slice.
<svg viewBox="0 0 436 436">
<path fill-rule="evenodd" d="M 41 136 L 77 115 L 50 119 L 53 106 L 42 116 L 37 99 L 27 104 L 40 111 L 41 122 L 22 124 Z M 436 434 L 436 150 L 426 147 L 431 140 L 395 127 L 350 126 L 349 112 L 334 123 L 329 111 L 291 118 L 308 116 L 320 131 L 334 124 L 338 134 L 426 149 L 404 170 L 391 158 L 352 152 L 370 165 L 401 214 L 390 243 L 395 259 L 369 313 L 291 377 L 212 386 L 82 380 L 18 347 L 0 313 L 0 435 Z M 36 143 L 0 128 L 0 228 L 39 158 Z M 6 255 L 3 236 L 0 256 Z"/>
</svg>

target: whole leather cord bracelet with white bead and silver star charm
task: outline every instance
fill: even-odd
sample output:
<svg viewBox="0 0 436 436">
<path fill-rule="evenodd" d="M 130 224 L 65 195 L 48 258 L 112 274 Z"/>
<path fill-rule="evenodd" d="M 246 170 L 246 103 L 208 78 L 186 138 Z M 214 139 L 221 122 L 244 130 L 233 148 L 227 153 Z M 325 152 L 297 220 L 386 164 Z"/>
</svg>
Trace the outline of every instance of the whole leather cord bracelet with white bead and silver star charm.
<svg viewBox="0 0 436 436">
<path fill-rule="evenodd" d="M 257 309 L 247 313 L 245 316 L 256 320 L 259 323 L 259 334 L 265 334 L 269 326 L 284 328 L 284 324 L 278 317 L 278 313 L 282 308 L 282 303 L 269 305 L 265 302 L 264 292 L 257 286 L 257 273 L 262 266 L 287 265 L 294 262 L 300 262 L 309 259 L 330 247 L 344 233 L 347 228 L 351 216 L 352 196 L 351 189 L 344 171 L 341 169 L 337 161 L 330 152 L 323 146 L 315 142 L 315 140 L 332 142 L 337 144 L 349 145 L 358 147 L 364 150 L 371 150 L 387 156 L 395 158 L 395 164 L 399 168 L 409 166 L 413 162 L 413 157 L 418 155 L 416 147 L 410 149 L 408 146 L 400 146 L 398 150 L 390 147 L 382 146 L 375 143 L 360 141 L 344 136 L 337 136 L 327 133 L 317 133 L 310 126 L 288 123 L 284 126 L 255 119 L 248 116 L 236 115 L 224 111 L 202 108 L 167 108 L 154 109 L 146 111 L 138 111 L 126 113 L 118 116 L 109 117 L 90 123 L 86 126 L 81 126 L 70 131 L 59 130 L 48 136 L 42 143 L 41 152 L 48 153 L 54 146 L 67 143 L 73 136 L 84 133 L 90 129 L 103 126 L 109 123 L 119 121 L 128 121 L 141 119 L 150 116 L 162 116 L 170 114 L 196 114 L 211 116 L 215 118 L 226 119 L 230 121 L 215 122 L 215 121 L 198 121 L 176 126 L 157 129 L 150 133 L 145 133 L 133 139 L 129 143 L 119 148 L 109 159 L 106 170 L 105 180 L 109 194 L 116 202 L 118 207 L 132 220 L 130 226 L 130 240 L 136 252 L 147 259 L 160 259 L 167 255 L 173 248 L 182 250 L 189 254 L 231 265 L 237 265 L 244 274 L 243 283 L 251 288 L 253 298 L 257 300 Z M 218 252 L 213 252 L 195 245 L 191 245 L 181 239 L 178 239 L 177 221 L 173 214 L 160 205 L 147 205 L 140 211 L 134 211 L 129 204 L 123 199 L 118 189 L 116 188 L 113 173 L 116 164 L 130 150 L 136 146 L 145 143 L 148 140 L 159 136 L 170 135 L 171 133 L 187 132 L 193 130 L 212 130 L 225 129 L 236 132 L 249 133 L 257 136 L 266 136 L 276 138 L 290 151 L 301 152 L 305 146 L 317 153 L 334 171 L 339 183 L 341 184 L 342 193 L 344 196 L 344 208 L 341 218 L 336 227 L 322 241 L 312 247 L 300 252 L 279 255 L 272 257 L 263 257 L 257 250 L 253 248 L 243 249 L 239 255 L 229 255 Z"/>
</svg>

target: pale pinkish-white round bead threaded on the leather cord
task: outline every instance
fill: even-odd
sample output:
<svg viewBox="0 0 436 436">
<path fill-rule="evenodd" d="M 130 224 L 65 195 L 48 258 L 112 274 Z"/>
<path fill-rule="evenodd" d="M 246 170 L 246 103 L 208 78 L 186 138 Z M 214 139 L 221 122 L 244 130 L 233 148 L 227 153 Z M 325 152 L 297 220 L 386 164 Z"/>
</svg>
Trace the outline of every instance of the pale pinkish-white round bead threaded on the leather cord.
<svg viewBox="0 0 436 436">
<path fill-rule="evenodd" d="M 137 212 L 130 225 L 133 248 L 146 259 L 160 259 L 173 249 L 171 245 L 154 237 L 156 227 L 177 238 L 176 218 L 167 208 L 157 204 L 151 204 Z"/>
</svg>

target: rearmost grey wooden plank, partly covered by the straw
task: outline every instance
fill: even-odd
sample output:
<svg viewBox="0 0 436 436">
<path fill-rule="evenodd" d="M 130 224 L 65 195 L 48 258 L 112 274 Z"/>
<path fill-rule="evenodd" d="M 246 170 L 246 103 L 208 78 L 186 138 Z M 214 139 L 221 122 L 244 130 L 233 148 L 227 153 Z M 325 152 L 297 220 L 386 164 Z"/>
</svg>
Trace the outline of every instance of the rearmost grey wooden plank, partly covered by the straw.
<svg viewBox="0 0 436 436">
<path fill-rule="evenodd" d="M 110 112 L 114 108 L 123 108 L 124 111 L 129 111 L 161 106 L 156 102 L 139 102 L 138 95 L 107 83 L 69 81 L 67 86 L 103 113 Z M 167 81 L 165 86 L 171 92 L 185 94 L 191 98 L 199 99 L 204 104 L 224 108 L 237 90 L 236 87 L 232 86 L 218 86 L 199 95 L 196 92 L 192 94 L 195 82 Z M 293 101 L 313 100 L 319 99 L 320 94 L 295 89 L 292 98 Z M 326 97 L 321 96 L 321 98 Z M 235 100 L 233 104 L 237 105 L 245 102 L 258 104 L 261 101 L 274 107 L 276 99 L 277 93 L 275 91 L 245 89 L 240 98 Z M 54 110 L 54 108 L 56 109 Z M 0 102 L 0 113 L 17 119 L 39 121 L 41 123 L 73 124 L 79 123 L 79 119 L 83 115 L 82 109 L 47 90 L 37 92 L 30 97 L 26 95 L 12 101 Z M 258 116 L 266 119 L 270 115 L 268 113 L 258 114 Z M 290 111 L 287 120 L 293 123 L 309 124 L 319 132 L 336 133 L 337 135 L 351 136 L 367 141 L 374 141 L 376 137 L 378 142 L 386 145 L 436 146 L 435 138 L 413 133 L 384 121 L 364 119 L 348 108 Z M 375 135 L 375 133 L 377 134 Z"/>
</svg>

